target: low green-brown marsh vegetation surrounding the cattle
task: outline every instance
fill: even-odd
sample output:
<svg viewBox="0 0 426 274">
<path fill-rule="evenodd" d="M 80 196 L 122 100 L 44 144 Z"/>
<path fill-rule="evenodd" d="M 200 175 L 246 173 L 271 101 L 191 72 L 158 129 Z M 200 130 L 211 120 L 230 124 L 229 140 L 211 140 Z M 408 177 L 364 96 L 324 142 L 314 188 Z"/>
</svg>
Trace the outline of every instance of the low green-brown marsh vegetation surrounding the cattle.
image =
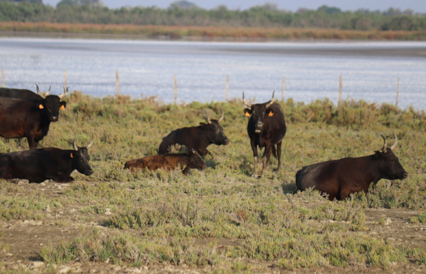
<svg viewBox="0 0 426 274">
<path fill-rule="evenodd" d="M 1 182 L 1 231 L 7 233 L 0 238 L 4 262 L 16 260 L 6 254 L 22 248 L 13 245 L 11 232 L 26 241 L 37 231 L 19 232 L 26 221 L 32 229 L 50 229 L 45 243 L 33 248 L 40 256 L 37 260 L 45 262 L 45 269 L 38 269 L 42 272 L 61 264 L 93 262 L 141 271 L 170 264 L 216 273 L 425 267 L 424 236 L 414 245 L 368 233 L 389 223 L 386 218 L 370 220 L 368 210 L 409 210 L 414 213 L 402 217 L 407 225 L 423 229 L 423 111 L 365 101 L 344 101 L 339 107 L 327 99 L 280 102 L 287 121 L 283 168 L 255 179 L 249 177 L 253 155 L 240 100 L 173 105 L 156 97 L 101 99 L 73 92 L 67 101 L 67 109 L 41 145 L 66 149 L 74 134 L 81 143 L 93 134 L 96 141 L 89 153 L 94 173 L 73 174 L 77 182 L 65 185 Z M 127 160 L 157 153 L 161 138 L 173 129 L 205 121 L 201 108 L 210 116 L 225 110 L 221 125 L 230 141 L 209 147 L 214 158 L 206 156 L 203 171 L 183 175 L 179 170 L 123 169 Z M 372 155 L 383 145 L 379 134 L 391 138 L 392 132 L 399 138 L 394 153 L 409 173 L 407 179 L 382 179 L 368 195 L 345 201 L 328 201 L 315 190 L 296 191 L 295 173 L 302 166 Z M 0 151 L 19 151 L 26 145 L 0 140 Z M 271 164 L 276 166 L 275 158 Z M 401 234 L 403 228 L 398 229 L 392 237 Z M 67 236 L 55 236 L 66 230 Z M 28 259 L 23 260 L 19 267 L 30 271 L 25 270 Z"/>
</svg>

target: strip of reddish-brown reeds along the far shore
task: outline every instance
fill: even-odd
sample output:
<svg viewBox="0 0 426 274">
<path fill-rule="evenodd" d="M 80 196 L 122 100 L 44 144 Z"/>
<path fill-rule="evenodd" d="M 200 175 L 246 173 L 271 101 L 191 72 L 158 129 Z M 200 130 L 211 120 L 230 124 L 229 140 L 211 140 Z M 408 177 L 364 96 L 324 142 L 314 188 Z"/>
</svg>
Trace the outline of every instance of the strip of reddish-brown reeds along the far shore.
<svg viewBox="0 0 426 274">
<path fill-rule="evenodd" d="M 113 25 L 81 23 L 0 22 L 0 32 L 46 32 L 60 34 L 119 34 L 168 36 L 169 38 L 266 38 L 266 39 L 353 39 L 426 40 L 426 31 L 378 31 L 341 29 L 295 29 L 282 27 L 199 27 L 165 25 Z"/>
</svg>

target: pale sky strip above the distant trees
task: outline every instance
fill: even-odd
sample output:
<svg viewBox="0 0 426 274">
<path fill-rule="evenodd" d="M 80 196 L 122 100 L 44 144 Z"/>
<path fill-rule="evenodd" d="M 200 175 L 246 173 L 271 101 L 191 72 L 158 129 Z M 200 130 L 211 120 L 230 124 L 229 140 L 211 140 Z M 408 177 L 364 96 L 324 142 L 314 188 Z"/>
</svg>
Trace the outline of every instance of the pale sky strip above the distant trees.
<svg viewBox="0 0 426 274">
<path fill-rule="evenodd" d="M 60 0 L 43 0 L 43 3 L 55 6 Z M 122 6 L 152 6 L 156 5 L 159 8 L 168 8 L 173 0 L 102 0 L 109 8 L 120 8 Z M 299 8 L 309 8 L 316 10 L 321 5 L 330 5 L 341 10 L 358 10 L 359 8 L 367 8 L 369 10 L 388 10 L 388 8 L 400 8 L 406 10 L 410 8 L 414 12 L 426 12 L 426 0 L 298 0 L 298 1 L 283 1 L 283 0 L 189 0 L 196 3 L 201 8 L 212 9 L 218 5 L 225 4 L 229 9 L 246 10 L 254 5 L 261 5 L 266 2 L 277 3 L 278 8 L 291 10 L 295 12 Z"/>
</svg>

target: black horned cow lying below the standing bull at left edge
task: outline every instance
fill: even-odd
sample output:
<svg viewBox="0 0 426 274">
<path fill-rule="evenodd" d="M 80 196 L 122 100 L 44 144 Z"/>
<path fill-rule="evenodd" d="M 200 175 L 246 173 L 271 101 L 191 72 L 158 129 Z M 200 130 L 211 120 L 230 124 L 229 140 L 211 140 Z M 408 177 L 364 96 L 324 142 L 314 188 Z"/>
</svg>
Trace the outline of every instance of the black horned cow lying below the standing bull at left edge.
<svg viewBox="0 0 426 274">
<path fill-rule="evenodd" d="M 94 139 L 93 139 L 94 140 Z M 30 182 L 41 183 L 46 179 L 56 182 L 72 182 L 71 172 L 75 169 L 87 176 L 93 174 L 90 167 L 90 156 L 87 149 L 93 145 L 93 140 L 87 147 L 77 147 L 76 138 L 73 150 L 32 149 L 0 154 L 0 177 L 3 179 L 27 179 Z"/>
</svg>

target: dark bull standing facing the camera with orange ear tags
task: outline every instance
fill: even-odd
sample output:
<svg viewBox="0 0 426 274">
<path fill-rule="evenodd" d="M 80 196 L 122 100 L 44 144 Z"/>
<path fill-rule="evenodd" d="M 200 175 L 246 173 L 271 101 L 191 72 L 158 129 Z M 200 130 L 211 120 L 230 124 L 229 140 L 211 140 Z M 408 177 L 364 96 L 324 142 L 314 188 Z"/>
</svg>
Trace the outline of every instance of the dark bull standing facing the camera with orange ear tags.
<svg viewBox="0 0 426 274">
<path fill-rule="evenodd" d="M 281 169 L 281 144 L 282 138 L 286 133 L 286 125 L 284 121 L 284 113 L 282 112 L 279 103 L 273 103 L 275 91 L 272 94 L 271 101 L 266 103 L 256 103 L 249 105 L 244 98 L 243 102 L 247 107 L 244 112 L 246 116 L 250 116 L 247 124 L 247 133 L 249 134 L 251 149 L 254 154 L 254 171 L 251 177 L 258 177 L 258 147 L 265 147 L 265 152 L 262 156 L 263 169 L 262 175 L 269 169 L 271 152 L 278 158 L 278 170 Z M 275 147 L 277 145 L 277 147 Z"/>
</svg>

